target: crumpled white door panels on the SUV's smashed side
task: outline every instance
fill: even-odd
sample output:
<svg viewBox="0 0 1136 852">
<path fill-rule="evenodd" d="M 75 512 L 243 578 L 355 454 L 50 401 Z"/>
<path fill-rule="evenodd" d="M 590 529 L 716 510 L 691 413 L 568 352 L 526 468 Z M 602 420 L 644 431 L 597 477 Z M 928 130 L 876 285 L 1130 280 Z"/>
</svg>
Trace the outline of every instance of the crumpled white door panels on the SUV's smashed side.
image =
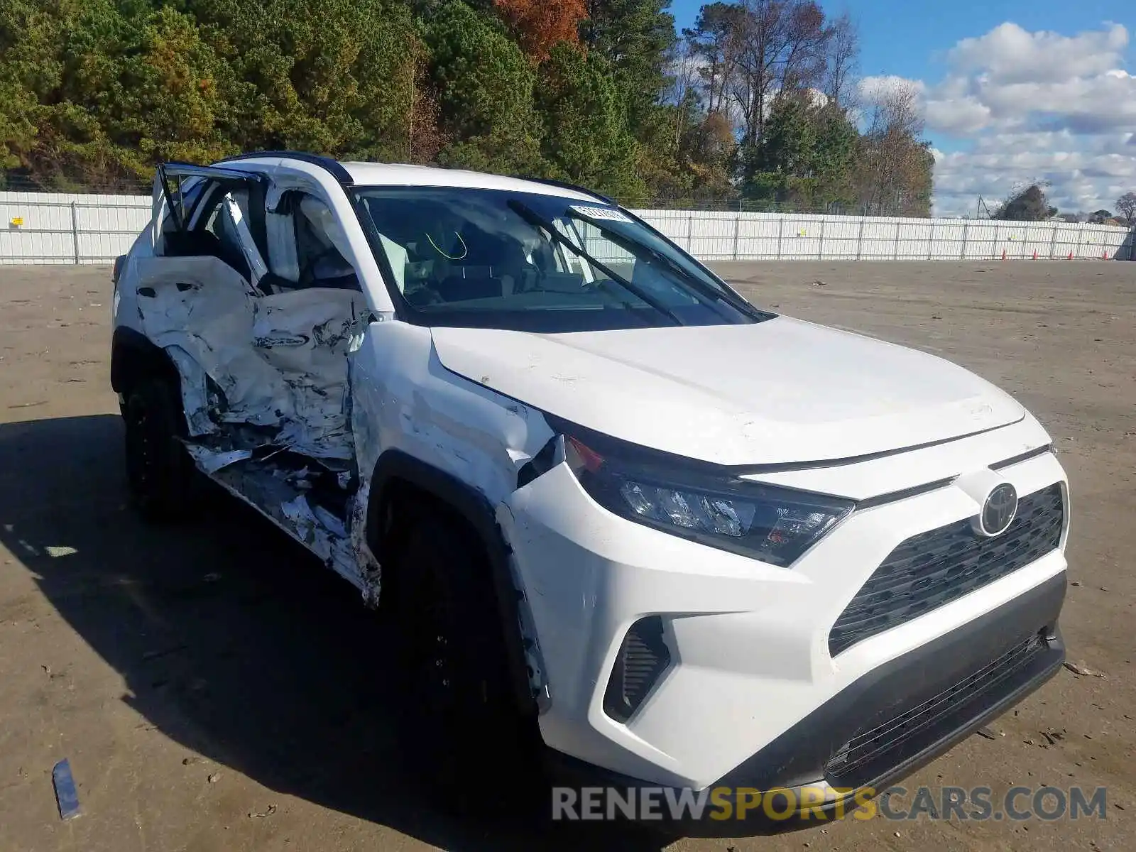
<svg viewBox="0 0 1136 852">
<path fill-rule="evenodd" d="M 140 266 L 143 331 L 178 366 L 192 435 L 251 424 L 277 428 L 273 443 L 306 456 L 353 457 L 345 393 L 348 354 L 367 316 L 362 293 L 260 295 L 211 257 Z"/>
</svg>

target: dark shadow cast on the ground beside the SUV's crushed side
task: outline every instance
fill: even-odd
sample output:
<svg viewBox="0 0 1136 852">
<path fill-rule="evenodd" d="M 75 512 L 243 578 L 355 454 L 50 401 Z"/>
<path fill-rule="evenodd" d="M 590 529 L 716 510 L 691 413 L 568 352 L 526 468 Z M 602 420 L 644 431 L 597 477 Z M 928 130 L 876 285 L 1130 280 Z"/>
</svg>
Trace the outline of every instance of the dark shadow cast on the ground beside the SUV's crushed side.
<svg viewBox="0 0 1136 852">
<path fill-rule="evenodd" d="M 122 443 L 111 415 L 0 424 L 0 541 L 122 675 L 122 700 L 165 735 L 272 790 L 443 849 L 663 844 L 611 825 L 448 817 L 412 780 L 390 636 L 358 593 L 225 494 L 193 524 L 142 524 Z M 66 554 L 52 557 L 59 546 Z"/>
</svg>

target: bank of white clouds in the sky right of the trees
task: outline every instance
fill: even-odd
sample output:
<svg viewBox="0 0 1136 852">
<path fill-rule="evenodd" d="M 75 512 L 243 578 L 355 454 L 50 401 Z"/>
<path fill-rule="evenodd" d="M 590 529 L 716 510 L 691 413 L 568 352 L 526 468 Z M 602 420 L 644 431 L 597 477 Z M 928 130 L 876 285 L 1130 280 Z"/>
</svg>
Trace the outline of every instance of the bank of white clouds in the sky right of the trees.
<svg viewBox="0 0 1136 852">
<path fill-rule="evenodd" d="M 1120 24 L 1062 35 L 1005 23 L 947 51 L 949 72 L 914 81 L 928 135 L 969 150 L 935 151 L 935 212 L 974 212 L 977 198 L 1050 182 L 1062 210 L 1111 209 L 1136 189 L 1136 75 L 1124 67 Z M 896 85 L 869 77 L 866 91 Z M 953 145 L 947 145 L 953 147 Z"/>
</svg>

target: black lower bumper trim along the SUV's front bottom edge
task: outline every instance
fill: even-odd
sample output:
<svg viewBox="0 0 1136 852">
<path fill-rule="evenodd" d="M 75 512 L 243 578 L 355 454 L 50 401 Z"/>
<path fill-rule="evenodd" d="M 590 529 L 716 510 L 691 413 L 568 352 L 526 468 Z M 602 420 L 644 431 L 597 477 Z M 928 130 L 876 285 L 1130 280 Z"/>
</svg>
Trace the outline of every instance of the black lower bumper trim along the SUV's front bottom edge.
<svg viewBox="0 0 1136 852">
<path fill-rule="evenodd" d="M 1064 661 L 1056 627 L 1060 574 L 1010 603 L 872 670 L 710 785 L 707 807 L 657 809 L 660 826 L 701 836 L 738 836 L 812 826 L 938 757 L 1049 680 Z M 851 747 L 850 747 L 851 745 Z M 680 801 L 567 755 L 550 755 L 558 786 L 600 787 Z M 775 791 L 771 804 L 761 793 Z M 603 801 L 602 799 L 600 800 Z M 617 811 L 617 813 L 619 813 Z M 620 816 L 623 816 L 620 813 Z"/>
</svg>

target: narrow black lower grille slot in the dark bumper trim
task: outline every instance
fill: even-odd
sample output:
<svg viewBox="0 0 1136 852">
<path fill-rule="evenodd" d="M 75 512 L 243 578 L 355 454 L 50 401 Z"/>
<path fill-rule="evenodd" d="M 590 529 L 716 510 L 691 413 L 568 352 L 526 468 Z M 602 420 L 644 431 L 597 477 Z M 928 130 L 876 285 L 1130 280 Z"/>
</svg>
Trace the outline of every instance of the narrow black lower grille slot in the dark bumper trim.
<svg viewBox="0 0 1136 852">
<path fill-rule="evenodd" d="M 1046 648 L 1043 634 L 1030 636 L 934 698 L 858 733 L 828 761 L 825 777 L 834 786 L 858 786 L 921 753 L 942 737 L 944 725 L 955 728 L 979 717 L 1018 686 L 1010 683 L 1013 676 Z"/>
</svg>

